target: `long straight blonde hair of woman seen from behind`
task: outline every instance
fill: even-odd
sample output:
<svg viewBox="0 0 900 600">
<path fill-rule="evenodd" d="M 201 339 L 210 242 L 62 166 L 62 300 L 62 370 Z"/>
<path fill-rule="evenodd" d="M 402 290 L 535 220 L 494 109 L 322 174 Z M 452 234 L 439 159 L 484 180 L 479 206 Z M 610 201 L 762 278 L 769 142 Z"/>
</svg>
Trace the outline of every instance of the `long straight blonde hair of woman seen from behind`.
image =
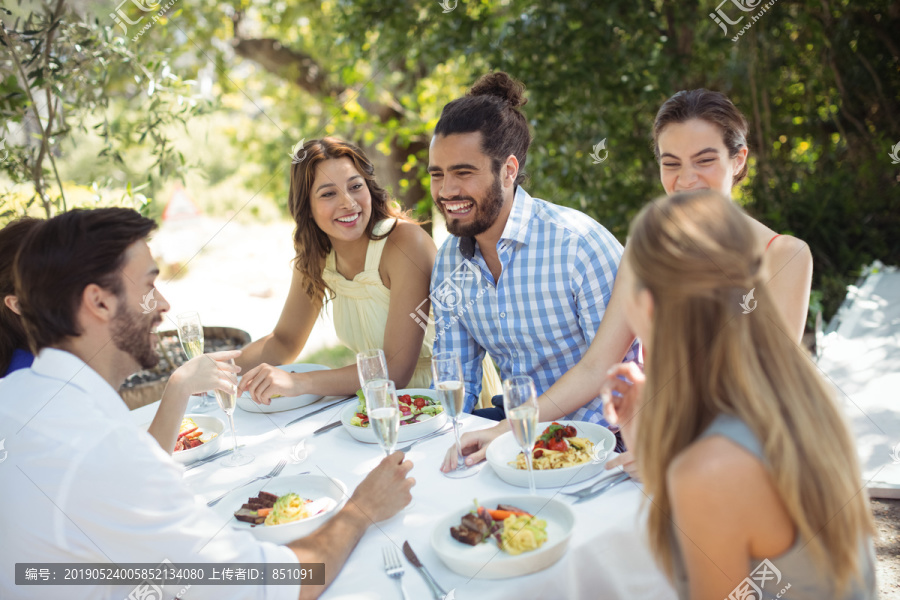
<svg viewBox="0 0 900 600">
<path fill-rule="evenodd" d="M 669 465 L 717 415 L 733 415 L 760 440 L 805 548 L 840 591 L 862 575 L 859 544 L 874 533 L 856 449 L 833 390 L 759 277 L 762 255 L 747 223 L 740 208 L 706 190 L 657 199 L 631 227 L 627 260 L 654 302 L 635 443 L 653 499 L 651 548 L 671 577 Z M 751 290 L 756 304 L 746 298 Z"/>
</svg>

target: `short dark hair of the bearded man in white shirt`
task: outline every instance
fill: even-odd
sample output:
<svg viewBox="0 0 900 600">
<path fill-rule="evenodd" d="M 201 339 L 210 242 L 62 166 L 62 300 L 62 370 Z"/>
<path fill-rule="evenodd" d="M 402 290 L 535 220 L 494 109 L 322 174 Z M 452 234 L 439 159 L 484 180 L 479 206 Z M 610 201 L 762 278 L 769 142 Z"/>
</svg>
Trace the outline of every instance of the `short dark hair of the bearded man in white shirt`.
<svg viewBox="0 0 900 600">
<path fill-rule="evenodd" d="M 32 352 L 81 335 L 86 286 L 122 295 L 125 250 L 155 228 L 134 210 L 98 208 L 57 215 L 28 236 L 16 256 L 15 287 Z"/>
</svg>

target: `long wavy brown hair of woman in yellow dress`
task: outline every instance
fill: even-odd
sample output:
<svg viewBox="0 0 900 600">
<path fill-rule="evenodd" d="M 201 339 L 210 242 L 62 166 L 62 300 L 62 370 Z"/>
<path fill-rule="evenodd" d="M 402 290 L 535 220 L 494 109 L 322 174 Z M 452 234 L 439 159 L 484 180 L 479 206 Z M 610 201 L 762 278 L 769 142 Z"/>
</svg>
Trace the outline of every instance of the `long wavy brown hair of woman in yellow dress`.
<svg viewBox="0 0 900 600">
<path fill-rule="evenodd" d="M 325 257 L 331 251 L 331 241 L 319 229 L 310 208 L 310 191 L 316 178 L 316 167 L 325 160 L 349 158 L 359 174 L 366 180 L 369 194 L 372 196 L 372 215 L 366 224 L 366 236 L 370 240 L 386 238 L 393 231 L 383 235 L 375 235 L 375 225 L 388 218 L 411 220 L 406 213 L 391 200 L 387 190 L 375 180 L 375 167 L 357 146 L 333 137 L 320 140 L 309 140 L 303 148 L 295 153 L 295 162 L 291 165 L 291 188 L 288 207 L 297 227 L 294 229 L 294 267 L 302 273 L 306 282 L 306 295 L 314 302 L 325 298 L 326 293 L 333 296 L 322 278 Z M 299 159 L 299 160 L 298 160 Z"/>
</svg>

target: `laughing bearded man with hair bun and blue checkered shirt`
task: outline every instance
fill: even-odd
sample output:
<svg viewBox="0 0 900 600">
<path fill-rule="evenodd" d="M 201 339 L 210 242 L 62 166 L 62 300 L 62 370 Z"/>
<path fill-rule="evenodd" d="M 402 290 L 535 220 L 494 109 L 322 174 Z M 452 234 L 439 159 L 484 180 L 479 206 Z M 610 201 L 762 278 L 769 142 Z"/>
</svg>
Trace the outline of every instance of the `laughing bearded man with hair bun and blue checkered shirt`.
<svg viewBox="0 0 900 600">
<path fill-rule="evenodd" d="M 539 394 L 577 364 L 604 318 L 622 257 L 602 225 L 521 187 L 532 140 L 524 91 L 506 73 L 484 75 L 444 107 L 429 152 L 432 199 L 453 234 L 431 276 L 434 352 L 459 352 L 466 411 L 481 390 L 485 352 L 503 378 L 529 375 Z M 627 333 L 620 321 L 614 327 Z M 637 351 L 635 343 L 614 360 L 634 360 Z M 478 414 L 503 418 L 500 408 Z M 605 424 L 599 397 L 567 417 Z M 505 421 L 498 428 L 509 429 Z M 463 447 L 470 464 L 476 452 L 483 453 L 477 439 Z M 454 449 L 442 470 L 456 462 Z"/>
</svg>

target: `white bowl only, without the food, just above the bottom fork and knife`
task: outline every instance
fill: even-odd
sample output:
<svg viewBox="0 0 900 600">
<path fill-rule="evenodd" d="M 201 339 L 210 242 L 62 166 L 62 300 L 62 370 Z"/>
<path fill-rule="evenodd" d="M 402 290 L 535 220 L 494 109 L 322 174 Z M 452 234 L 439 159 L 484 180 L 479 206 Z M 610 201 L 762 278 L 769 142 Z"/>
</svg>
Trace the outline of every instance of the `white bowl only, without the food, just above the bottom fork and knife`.
<svg viewBox="0 0 900 600">
<path fill-rule="evenodd" d="M 511 504 L 547 522 L 547 541 L 537 550 L 518 556 L 500 550 L 496 540 L 469 546 L 453 539 L 450 527 L 472 510 L 469 503 L 441 519 L 431 534 L 431 546 L 451 571 L 476 579 L 505 579 L 546 569 L 566 553 L 575 527 L 575 514 L 559 500 L 539 496 L 503 496 L 480 502 L 485 508 Z"/>
</svg>

